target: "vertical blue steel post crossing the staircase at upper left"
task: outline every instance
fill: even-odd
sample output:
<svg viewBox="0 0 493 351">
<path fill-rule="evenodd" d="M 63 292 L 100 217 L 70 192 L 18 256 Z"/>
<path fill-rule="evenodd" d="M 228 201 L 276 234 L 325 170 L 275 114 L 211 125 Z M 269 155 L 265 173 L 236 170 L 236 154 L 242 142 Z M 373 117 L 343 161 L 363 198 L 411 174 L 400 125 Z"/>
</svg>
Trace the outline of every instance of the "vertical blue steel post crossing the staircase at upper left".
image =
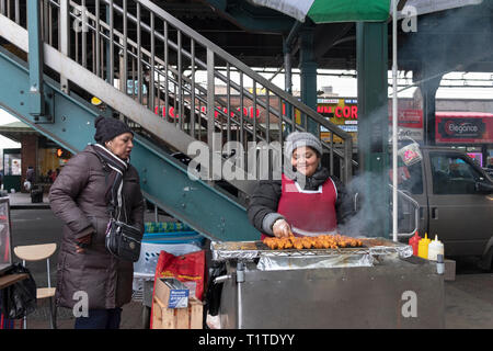
<svg viewBox="0 0 493 351">
<path fill-rule="evenodd" d="M 45 114 L 43 97 L 43 42 L 41 38 L 39 1 L 27 1 L 27 32 L 30 39 L 30 114 L 36 121 Z"/>
</svg>

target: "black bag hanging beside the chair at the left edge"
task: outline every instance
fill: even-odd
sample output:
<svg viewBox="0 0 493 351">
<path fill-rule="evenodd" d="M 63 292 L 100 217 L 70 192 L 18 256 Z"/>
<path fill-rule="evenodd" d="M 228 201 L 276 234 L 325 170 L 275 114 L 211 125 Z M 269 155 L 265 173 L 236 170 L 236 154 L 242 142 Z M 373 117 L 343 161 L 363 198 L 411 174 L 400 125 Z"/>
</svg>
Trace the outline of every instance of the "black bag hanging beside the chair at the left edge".
<svg viewBox="0 0 493 351">
<path fill-rule="evenodd" d="M 28 278 L 0 291 L 0 310 L 5 318 L 20 319 L 36 309 L 36 282 L 28 269 L 12 264 L 5 274 L 27 273 Z"/>
</svg>

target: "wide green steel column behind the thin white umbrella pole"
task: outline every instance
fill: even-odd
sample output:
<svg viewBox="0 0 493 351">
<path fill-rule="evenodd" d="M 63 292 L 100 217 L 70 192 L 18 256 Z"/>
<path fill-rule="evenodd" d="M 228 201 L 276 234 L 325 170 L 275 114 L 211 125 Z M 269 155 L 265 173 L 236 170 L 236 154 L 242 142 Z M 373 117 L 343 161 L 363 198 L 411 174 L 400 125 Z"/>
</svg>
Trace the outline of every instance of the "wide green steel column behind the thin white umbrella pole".
<svg viewBox="0 0 493 351">
<path fill-rule="evenodd" d="M 387 23 L 357 23 L 358 156 L 365 234 L 390 233 Z"/>
</svg>

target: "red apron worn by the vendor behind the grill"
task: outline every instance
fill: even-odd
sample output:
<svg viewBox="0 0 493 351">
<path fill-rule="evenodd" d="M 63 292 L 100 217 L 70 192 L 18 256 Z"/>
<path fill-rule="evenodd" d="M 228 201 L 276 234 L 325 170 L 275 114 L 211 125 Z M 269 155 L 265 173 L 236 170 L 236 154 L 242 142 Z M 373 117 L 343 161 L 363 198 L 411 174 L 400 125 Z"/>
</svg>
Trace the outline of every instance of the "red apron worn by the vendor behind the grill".
<svg viewBox="0 0 493 351">
<path fill-rule="evenodd" d="M 302 190 L 284 174 L 282 184 L 277 213 L 286 218 L 295 236 L 328 234 L 336 228 L 337 190 L 331 178 L 314 191 Z M 265 237 L 262 235 L 262 239 Z"/>
</svg>

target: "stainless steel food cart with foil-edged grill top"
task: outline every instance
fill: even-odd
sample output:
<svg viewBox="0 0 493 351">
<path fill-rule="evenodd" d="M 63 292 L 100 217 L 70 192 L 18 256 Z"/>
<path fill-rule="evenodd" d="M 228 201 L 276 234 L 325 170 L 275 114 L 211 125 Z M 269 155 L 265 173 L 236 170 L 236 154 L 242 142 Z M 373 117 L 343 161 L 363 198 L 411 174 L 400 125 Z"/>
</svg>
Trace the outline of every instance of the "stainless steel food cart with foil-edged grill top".
<svg viewBox="0 0 493 351">
<path fill-rule="evenodd" d="M 443 328 L 444 278 L 408 245 L 272 250 L 262 241 L 211 242 L 226 263 L 221 328 Z"/>
</svg>

